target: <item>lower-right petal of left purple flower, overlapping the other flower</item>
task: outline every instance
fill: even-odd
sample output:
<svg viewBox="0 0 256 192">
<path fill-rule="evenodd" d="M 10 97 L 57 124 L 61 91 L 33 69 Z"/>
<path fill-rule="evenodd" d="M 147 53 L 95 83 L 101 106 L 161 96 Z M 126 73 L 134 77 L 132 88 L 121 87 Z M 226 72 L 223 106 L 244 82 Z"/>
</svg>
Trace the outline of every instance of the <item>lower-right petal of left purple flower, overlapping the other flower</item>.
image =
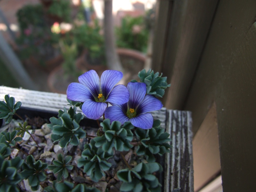
<svg viewBox="0 0 256 192">
<path fill-rule="evenodd" d="M 106 101 L 118 105 L 121 105 L 123 103 L 127 103 L 130 97 L 130 93 L 128 89 L 124 85 L 116 85 L 113 90 L 108 95 L 108 98 Z"/>
</svg>

